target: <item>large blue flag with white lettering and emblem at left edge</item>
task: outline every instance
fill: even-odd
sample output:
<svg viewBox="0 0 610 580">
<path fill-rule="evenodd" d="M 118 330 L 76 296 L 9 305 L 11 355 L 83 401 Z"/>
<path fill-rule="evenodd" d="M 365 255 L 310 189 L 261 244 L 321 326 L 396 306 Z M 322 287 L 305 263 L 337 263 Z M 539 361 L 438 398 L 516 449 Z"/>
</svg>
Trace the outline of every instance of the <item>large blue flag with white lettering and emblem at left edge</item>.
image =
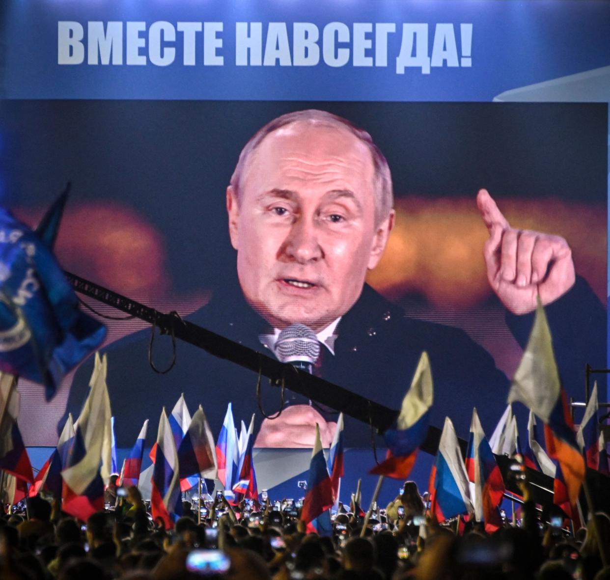
<svg viewBox="0 0 610 580">
<path fill-rule="evenodd" d="M 0 371 L 45 385 L 47 399 L 106 335 L 79 310 L 52 254 L 66 198 L 67 191 L 35 231 L 0 207 Z"/>
</svg>

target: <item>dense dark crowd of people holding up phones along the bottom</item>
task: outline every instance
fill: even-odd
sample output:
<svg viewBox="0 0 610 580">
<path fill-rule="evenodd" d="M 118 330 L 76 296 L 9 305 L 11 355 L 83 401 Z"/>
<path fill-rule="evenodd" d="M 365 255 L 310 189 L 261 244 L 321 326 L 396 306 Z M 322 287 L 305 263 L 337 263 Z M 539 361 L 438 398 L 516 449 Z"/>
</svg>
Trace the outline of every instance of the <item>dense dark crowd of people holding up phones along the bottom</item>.
<svg viewBox="0 0 610 580">
<path fill-rule="evenodd" d="M 135 486 L 119 488 L 115 505 L 86 522 L 39 495 L 0 518 L 0 578 L 610 578 L 602 555 L 610 546 L 610 518 L 598 514 L 595 526 L 575 533 L 552 525 L 529 499 L 529 484 L 521 485 L 525 503 L 519 518 L 506 519 L 493 534 L 467 518 L 437 523 L 426 514 L 413 482 L 406 482 L 386 509 L 372 512 L 364 532 L 354 504 L 353 511 L 339 504 L 332 536 L 306 529 L 300 502 L 292 499 L 231 506 L 221 493 L 202 496 L 201 502 L 195 494 L 195 501 L 184 502 L 173 529 L 165 529 L 160 518 L 152 519 Z"/>
</svg>

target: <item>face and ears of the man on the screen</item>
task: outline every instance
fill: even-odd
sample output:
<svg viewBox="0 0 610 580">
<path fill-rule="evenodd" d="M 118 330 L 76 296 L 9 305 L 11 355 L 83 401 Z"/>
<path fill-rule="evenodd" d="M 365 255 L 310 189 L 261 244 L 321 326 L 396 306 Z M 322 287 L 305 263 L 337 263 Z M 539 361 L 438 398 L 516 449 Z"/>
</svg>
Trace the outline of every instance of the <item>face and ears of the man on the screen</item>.
<svg viewBox="0 0 610 580">
<path fill-rule="evenodd" d="M 231 242 L 248 303 L 275 328 L 319 332 L 356 302 L 386 245 L 373 160 L 348 131 L 294 123 L 267 135 L 228 188 Z"/>
</svg>

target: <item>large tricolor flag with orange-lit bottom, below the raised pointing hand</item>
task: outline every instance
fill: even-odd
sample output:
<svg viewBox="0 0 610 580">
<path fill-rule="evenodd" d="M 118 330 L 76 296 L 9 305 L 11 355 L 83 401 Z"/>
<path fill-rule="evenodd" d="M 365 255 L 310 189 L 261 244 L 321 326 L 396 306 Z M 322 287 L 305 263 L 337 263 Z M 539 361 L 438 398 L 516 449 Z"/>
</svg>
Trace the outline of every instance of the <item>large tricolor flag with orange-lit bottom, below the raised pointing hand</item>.
<svg viewBox="0 0 610 580">
<path fill-rule="evenodd" d="M 551 459 L 558 461 L 553 502 L 572 518 L 585 464 L 576 443 L 572 415 L 561 388 L 551 332 L 540 299 L 528 344 L 512 379 L 508 403 L 512 401 L 525 404 L 545 422 L 547 451 Z"/>
</svg>

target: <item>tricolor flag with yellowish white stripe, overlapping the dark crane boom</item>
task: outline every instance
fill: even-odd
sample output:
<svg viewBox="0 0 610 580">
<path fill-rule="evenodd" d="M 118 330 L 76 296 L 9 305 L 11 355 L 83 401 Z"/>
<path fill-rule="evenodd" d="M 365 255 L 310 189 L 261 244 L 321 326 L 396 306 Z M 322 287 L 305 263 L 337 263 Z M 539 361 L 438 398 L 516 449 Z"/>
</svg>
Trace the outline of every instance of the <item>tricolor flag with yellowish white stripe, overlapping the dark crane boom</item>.
<svg viewBox="0 0 610 580">
<path fill-rule="evenodd" d="M 432 373 L 428 353 L 423 352 L 415 369 L 411 387 L 404 395 L 397 428 L 388 429 L 384 439 L 388 446 L 387 457 L 370 473 L 404 479 L 415 463 L 417 449 L 428 433 L 432 406 Z"/>
</svg>

